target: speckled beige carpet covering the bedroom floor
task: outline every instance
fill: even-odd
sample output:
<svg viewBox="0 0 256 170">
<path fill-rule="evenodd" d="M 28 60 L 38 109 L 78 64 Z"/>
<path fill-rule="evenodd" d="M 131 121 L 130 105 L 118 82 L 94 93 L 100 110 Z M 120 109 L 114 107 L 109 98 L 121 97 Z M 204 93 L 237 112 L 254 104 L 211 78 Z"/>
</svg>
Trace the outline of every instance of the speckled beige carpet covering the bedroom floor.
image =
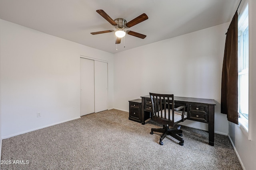
<svg viewBox="0 0 256 170">
<path fill-rule="evenodd" d="M 159 145 L 160 133 L 109 110 L 2 141 L 2 170 L 241 170 L 227 136 L 182 126 L 184 146 L 171 137 Z M 18 160 L 19 164 L 15 164 Z"/>
</svg>

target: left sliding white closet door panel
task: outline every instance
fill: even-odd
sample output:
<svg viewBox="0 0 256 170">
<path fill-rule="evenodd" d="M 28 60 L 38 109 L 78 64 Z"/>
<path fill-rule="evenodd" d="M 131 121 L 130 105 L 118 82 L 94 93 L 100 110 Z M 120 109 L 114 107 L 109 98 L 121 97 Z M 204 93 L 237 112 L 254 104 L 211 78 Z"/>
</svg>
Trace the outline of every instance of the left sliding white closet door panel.
<svg viewBox="0 0 256 170">
<path fill-rule="evenodd" d="M 94 113 L 94 60 L 80 58 L 80 116 Z"/>
</svg>

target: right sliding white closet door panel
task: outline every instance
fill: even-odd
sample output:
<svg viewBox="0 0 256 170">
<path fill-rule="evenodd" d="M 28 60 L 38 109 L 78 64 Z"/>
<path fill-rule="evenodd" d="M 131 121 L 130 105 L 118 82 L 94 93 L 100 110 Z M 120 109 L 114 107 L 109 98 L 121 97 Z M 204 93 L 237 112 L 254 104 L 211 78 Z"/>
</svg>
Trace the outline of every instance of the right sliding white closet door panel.
<svg viewBox="0 0 256 170">
<path fill-rule="evenodd" d="M 108 109 L 108 63 L 94 61 L 95 113 Z"/>
</svg>

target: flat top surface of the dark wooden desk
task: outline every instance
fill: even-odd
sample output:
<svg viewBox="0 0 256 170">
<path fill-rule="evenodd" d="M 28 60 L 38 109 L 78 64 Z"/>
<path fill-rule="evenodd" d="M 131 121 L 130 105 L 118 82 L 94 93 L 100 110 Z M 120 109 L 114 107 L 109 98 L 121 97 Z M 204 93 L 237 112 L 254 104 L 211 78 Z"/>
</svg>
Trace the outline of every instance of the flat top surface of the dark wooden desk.
<svg viewBox="0 0 256 170">
<path fill-rule="evenodd" d="M 141 96 L 141 98 L 150 98 L 150 96 L 149 95 Z M 188 98 L 188 97 L 174 96 L 174 101 L 175 102 L 191 102 L 191 103 L 202 103 L 202 104 L 216 105 L 216 102 L 214 99 Z"/>
</svg>

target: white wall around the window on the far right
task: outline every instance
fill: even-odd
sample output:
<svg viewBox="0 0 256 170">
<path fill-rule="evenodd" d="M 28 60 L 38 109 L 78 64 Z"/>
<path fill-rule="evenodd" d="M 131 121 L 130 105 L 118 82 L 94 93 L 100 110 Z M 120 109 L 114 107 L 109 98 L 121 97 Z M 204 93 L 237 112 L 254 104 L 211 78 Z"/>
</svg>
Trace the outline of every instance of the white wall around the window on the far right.
<svg viewBox="0 0 256 170">
<path fill-rule="evenodd" d="M 244 169 L 255 170 L 256 167 L 256 1 L 249 2 L 249 133 L 242 127 L 231 123 L 229 126 L 230 139 L 242 161 Z M 254 10 L 253 10 L 254 9 Z"/>
</svg>

